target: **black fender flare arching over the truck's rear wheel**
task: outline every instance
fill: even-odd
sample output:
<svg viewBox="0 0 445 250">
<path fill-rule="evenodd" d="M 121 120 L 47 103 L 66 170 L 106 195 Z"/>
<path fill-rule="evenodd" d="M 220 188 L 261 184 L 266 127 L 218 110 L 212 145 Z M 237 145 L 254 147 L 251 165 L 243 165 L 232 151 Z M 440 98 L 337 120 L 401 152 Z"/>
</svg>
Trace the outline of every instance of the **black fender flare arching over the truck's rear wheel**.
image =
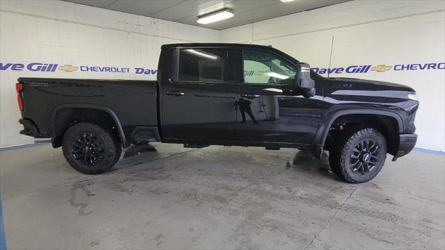
<svg viewBox="0 0 445 250">
<path fill-rule="evenodd" d="M 127 138 L 125 137 L 124 134 L 124 130 L 122 129 L 122 125 L 120 124 L 120 120 L 118 118 L 118 115 L 116 115 L 116 113 L 114 113 L 113 110 L 111 110 L 111 108 L 107 108 L 105 106 L 100 106 L 100 105 L 96 105 L 96 104 L 62 104 L 59 106 L 56 106 L 56 108 L 53 109 L 53 112 L 51 113 L 51 142 L 53 142 L 53 146 L 54 146 L 54 138 L 56 136 L 56 126 L 54 126 L 55 122 L 56 122 L 56 115 L 58 113 L 58 111 L 63 110 L 65 108 L 90 108 L 90 109 L 95 109 L 95 110 L 102 110 L 105 111 L 106 113 L 108 113 L 108 115 L 111 116 L 111 118 L 113 119 L 113 121 L 115 122 L 117 128 L 118 128 L 118 132 L 120 135 L 120 138 L 122 140 L 122 147 L 126 148 L 129 146 L 129 142 L 127 140 Z"/>
</svg>

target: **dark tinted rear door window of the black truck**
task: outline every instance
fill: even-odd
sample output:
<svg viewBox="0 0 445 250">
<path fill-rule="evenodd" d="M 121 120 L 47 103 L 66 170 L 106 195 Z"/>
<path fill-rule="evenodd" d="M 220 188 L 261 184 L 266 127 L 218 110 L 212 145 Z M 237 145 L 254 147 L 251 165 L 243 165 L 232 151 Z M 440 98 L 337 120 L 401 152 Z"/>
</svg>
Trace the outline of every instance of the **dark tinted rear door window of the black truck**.
<svg viewBox="0 0 445 250">
<path fill-rule="evenodd" d="M 227 70 L 227 49 L 181 49 L 179 81 L 233 81 Z M 233 73 L 232 73 L 233 75 Z"/>
</svg>

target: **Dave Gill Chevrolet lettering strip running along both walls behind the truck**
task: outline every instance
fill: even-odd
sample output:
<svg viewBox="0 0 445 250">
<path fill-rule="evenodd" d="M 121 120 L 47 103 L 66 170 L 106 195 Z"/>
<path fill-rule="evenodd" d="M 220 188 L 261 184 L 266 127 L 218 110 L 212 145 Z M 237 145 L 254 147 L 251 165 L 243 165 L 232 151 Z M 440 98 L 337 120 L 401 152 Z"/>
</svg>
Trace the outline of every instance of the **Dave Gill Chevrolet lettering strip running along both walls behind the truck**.
<svg viewBox="0 0 445 250">
<path fill-rule="evenodd" d="M 445 63 L 407 63 L 396 65 L 349 65 L 347 67 L 321 68 L 312 67 L 318 74 L 366 74 L 369 72 L 406 72 L 414 70 L 445 69 Z M 66 65 L 61 63 L 0 63 L 0 71 L 29 72 L 99 72 L 154 75 L 157 69 L 152 67 L 106 67 L 97 65 Z M 256 72 L 258 73 L 258 72 Z"/>
</svg>

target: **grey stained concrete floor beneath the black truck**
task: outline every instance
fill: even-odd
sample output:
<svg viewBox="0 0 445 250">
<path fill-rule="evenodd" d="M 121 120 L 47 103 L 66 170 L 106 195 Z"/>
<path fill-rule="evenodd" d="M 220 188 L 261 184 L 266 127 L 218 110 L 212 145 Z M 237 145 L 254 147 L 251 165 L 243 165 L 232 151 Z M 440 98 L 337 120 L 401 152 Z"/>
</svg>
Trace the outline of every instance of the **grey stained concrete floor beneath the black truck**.
<svg viewBox="0 0 445 250">
<path fill-rule="evenodd" d="M 307 151 L 131 147 L 86 176 L 49 145 L 0 152 L 8 249 L 444 249 L 445 156 L 361 185 Z"/>
</svg>

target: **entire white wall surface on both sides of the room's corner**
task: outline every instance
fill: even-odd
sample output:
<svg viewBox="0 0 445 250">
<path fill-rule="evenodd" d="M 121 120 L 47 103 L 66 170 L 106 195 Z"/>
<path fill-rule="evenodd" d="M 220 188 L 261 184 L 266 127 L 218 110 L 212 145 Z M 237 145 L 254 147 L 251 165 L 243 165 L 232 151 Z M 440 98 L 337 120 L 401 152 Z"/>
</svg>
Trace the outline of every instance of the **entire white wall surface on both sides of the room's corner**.
<svg viewBox="0 0 445 250">
<path fill-rule="evenodd" d="M 285 3 L 283 3 L 285 4 Z M 332 74 L 412 86 L 421 101 L 417 147 L 445 150 L 445 70 L 395 71 L 395 65 L 445 62 L 445 1 L 350 1 L 224 31 L 188 26 L 64 1 L 0 0 L 0 63 L 128 67 L 129 73 L 0 70 L 0 147 L 18 135 L 14 84 L 20 76 L 153 79 L 161 44 L 270 44 L 312 67 L 388 65 L 387 72 Z M 334 42 L 332 43 L 332 38 Z"/>
</svg>

